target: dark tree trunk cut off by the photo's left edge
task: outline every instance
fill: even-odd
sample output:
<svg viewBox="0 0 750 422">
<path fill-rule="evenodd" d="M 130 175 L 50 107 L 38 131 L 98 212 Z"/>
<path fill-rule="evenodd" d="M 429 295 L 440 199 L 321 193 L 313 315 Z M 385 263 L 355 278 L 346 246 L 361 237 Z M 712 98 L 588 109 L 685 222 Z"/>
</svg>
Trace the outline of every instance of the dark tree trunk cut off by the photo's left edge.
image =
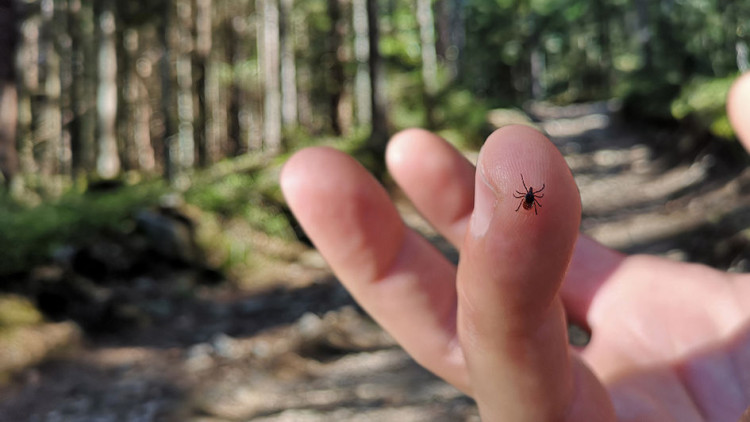
<svg viewBox="0 0 750 422">
<path fill-rule="evenodd" d="M 18 91 L 14 61 L 18 42 L 18 22 L 13 0 L 0 0 L 0 172 L 10 187 L 18 173 L 16 125 L 18 121 Z"/>
</svg>

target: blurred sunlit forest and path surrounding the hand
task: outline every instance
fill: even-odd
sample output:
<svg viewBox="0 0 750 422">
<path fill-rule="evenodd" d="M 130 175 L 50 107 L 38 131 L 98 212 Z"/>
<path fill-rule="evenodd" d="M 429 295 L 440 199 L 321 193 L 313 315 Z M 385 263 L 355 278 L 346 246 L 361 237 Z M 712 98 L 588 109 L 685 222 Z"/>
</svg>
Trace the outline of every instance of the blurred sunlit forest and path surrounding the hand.
<svg viewBox="0 0 750 422">
<path fill-rule="evenodd" d="M 748 43 L 732 0 L 0 0 L 0 421 L 478 420 L 339 286 L 283 162 L 353 154 L 456 260 L 388 137 L 528 124 L 584 233 L 748 271 Z"/>
</svg>

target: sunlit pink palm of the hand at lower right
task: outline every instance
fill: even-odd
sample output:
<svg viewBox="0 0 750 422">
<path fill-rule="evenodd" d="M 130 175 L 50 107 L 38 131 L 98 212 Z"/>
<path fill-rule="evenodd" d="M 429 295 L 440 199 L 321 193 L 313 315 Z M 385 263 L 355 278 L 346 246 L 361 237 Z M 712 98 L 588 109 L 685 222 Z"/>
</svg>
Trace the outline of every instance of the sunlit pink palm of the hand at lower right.
<svg viewBox="0 0 750 422">
<path fill-rule="evenodd" d="M 730 420 L 745 408 L 750 328 L 738 283 L 709 268 L 636 256 L 602 284 L 581 355 L 620 419 Z"/>
</svg>

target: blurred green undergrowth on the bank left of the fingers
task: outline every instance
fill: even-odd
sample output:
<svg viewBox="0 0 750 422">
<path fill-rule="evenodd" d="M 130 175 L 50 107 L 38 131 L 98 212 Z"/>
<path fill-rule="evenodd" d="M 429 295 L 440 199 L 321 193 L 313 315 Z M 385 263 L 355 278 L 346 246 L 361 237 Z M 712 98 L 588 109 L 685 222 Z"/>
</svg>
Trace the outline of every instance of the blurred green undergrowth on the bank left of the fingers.
<svg viewBox="0 0 750 422">
<path fill-rule="evenodd" d="M 196 172 L 190 186 L 177 192 L 186 203 L 187 214 L 197 223 L 199 245 L 205 250 L 228 251 L 214 253 L 224 257 L 214 260 L 219 267 L 245 257 L 232 250 L 247 249 L 235 244 L 236 237 L 227 240 L 226 224 L 230 221 L 270 236 L 294 238 L 276 181 L 279 168 L 243 156 Z M 97 234 L 127 233 L 135 227 L 133 217 L 139 210 L 157 207 L 166 194 L 175 192 L 165 182 L 152 180 L 102 192 L 70 189 L 57 199 L 36 205 L 0 196 L 0 277 L 49 262 L 61 247 L 83 244 Z"/>
</svg>

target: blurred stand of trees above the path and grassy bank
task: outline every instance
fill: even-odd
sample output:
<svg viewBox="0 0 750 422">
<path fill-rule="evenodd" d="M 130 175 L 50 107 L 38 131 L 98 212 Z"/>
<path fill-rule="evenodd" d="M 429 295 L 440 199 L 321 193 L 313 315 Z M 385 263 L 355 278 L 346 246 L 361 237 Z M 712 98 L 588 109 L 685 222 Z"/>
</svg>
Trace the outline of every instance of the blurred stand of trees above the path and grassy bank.
<svg viewBox="0 0 750 422">
<path fill-rule="evenodd" d="M 0 19 L 4 184 L 59 193 L 322 139 L 382 150 L 407 126 L 477 145 L 487 110 L 530 100 L 625 98 L 731 136 L 750 5 L 3 0 Z"/>
</svg>

